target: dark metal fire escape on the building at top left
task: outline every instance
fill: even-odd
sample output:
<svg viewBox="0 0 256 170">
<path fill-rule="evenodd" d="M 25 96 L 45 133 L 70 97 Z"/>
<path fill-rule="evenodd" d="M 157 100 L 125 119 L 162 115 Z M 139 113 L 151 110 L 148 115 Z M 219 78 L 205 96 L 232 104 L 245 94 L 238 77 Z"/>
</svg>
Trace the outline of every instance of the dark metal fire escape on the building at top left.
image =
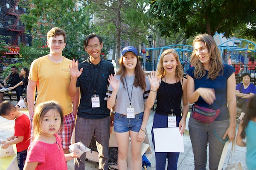
<svg viewBox="0 0 256 170">
<path fill-rule="evenodd" d="M 12 35 L 12 39 L 9 43 L 12 46 L 18 46 L 17 43 L 19 37 L 21 37 L 21 42 L 26 44 L 26 35 L 23 34 L 25 32 L 25 27 L 21 26 L 20 23 L 20 14 L 23 14 L 24 11 L 18 10 L 18 3 L 19 0 L 8 0 L 9 1 L 9 8 L 6 10 L 6 15 L 9 16 L 9 25 L 7 26 L 7 30 Z"/>
</svg>

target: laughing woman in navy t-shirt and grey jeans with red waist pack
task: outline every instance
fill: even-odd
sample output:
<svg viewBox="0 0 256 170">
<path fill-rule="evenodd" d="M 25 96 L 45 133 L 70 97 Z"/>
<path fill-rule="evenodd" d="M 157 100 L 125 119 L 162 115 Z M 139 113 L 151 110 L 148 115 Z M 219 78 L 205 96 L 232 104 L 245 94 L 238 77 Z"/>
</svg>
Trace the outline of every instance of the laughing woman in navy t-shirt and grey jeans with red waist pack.
<svg viewBox="0 0 256 170">
<path fill-rule="evenodd" d="M 189 118 L 189 135 L 195 160 L 195 170 L 205 170 L 209 143 L 209 169 L 217 170 L 224 147 L 224 139 L 236 136 L 236 79 L 232 66 L 223 64 L 221 53 L 213 37 L 200 34 L 193 40 L 194 50 L 187 71 L 189 103 L 217 110 L 219 115 L 212 123 Z M 228 88 L 227 88 L 228 87 Z M 228 108 L 227 108 L 228 104 Z"/>
</svg>

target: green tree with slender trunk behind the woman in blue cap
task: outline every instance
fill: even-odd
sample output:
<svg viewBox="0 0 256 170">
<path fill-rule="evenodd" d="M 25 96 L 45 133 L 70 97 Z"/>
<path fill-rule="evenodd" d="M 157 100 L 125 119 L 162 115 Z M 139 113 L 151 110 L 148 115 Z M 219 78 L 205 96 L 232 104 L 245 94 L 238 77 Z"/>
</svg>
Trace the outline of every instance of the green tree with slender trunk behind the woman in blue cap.
<svg viewBox="0 0 256 170">
<path fill-rule="evenodd" d="M 97 17 L 99 34 L 108 37 L 119 59 L 121 42 L 139 47 L 146 42 L 148 22 L 146 21 L 146 0 L 90 0 Z M 118 62 L 117 62 L 118 64 Z"/>
</svg>

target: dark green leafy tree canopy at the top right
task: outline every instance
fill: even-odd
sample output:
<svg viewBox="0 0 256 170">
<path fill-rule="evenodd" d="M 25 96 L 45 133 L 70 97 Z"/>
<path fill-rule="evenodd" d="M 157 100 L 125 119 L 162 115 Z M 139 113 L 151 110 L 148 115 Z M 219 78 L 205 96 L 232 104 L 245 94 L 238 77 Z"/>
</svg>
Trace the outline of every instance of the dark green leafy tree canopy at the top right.
<svg viewBox="0 0 256 170">
<path fill-rule="evenodd" d="M 214 35 L 217 31 L 230 37 L 232 32 L 249 23 L 255 13 L 253 0 L 154 0 L 150 16 L 162 36 L 184 30 L 186 37 L 198 33 Z"/>
</svg>

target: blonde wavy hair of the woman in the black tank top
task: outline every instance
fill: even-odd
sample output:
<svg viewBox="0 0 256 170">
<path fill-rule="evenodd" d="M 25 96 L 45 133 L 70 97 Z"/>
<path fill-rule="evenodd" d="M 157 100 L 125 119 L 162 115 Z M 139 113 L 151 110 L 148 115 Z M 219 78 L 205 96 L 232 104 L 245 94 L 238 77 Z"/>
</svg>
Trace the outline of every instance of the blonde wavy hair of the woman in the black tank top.
<svg viewBox="0 0 256 170">
<path fill-rule="evenodd" d="M 158 61 L 158 64 L 157 64 L 157 77 L 160 77 L 160 78 L 163 78 L 166 74 L 166 71 L 164 70 L 163 68 L 163 57 L 165 57 L 167 54 L 170 54 L 172 53 L 178 63 L 177 67 L 176 67 L 176 70 L 175 70 L 175 77 L 177 79 L 181 79 L 183 78 L 183 67 L 181 65 L 181 62 L 180 62 L 180 59 L 179 59 L 179 55 L 177 53 L 177 51 L 175 49 L 167 49 L 165 51 L 163 51 L 163 53 L 161 54 L 160 56 L 160 59 Z"/>
</svg>

